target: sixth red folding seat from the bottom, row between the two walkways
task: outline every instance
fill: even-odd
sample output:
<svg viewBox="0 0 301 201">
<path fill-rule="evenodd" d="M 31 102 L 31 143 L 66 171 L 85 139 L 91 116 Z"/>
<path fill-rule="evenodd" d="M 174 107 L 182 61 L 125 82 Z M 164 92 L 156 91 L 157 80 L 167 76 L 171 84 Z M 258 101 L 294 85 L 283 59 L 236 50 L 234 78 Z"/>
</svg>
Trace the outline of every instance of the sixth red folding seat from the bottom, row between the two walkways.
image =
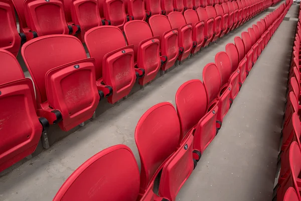
<svg viewBox="0 0 301 201">
<path fill-rule="evenodd" d="M 230 83 L 232 85 L 232 89 L 230 93 L 230 99 L 232 99 L 233 101 L 242 85 L 242 83 L 239 82 L 239 73 L 240 73 L 240 69 L 238 67 L 239 56 L 238 56 L 236 46 L 233 43 L 229 43 L 226 45 L 226 53 L 231 63 Z"/>
</svg>

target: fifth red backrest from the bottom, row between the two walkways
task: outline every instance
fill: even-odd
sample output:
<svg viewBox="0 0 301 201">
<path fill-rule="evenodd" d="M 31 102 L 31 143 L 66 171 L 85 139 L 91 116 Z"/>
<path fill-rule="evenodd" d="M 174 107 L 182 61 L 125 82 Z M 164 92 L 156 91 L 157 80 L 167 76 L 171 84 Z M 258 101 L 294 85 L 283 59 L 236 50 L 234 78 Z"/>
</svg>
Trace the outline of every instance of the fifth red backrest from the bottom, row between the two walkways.
<svg viewBox="0 0 301 201">
<path fill-rule="evenodd" d="M 218 52 L 215 55 L 215 65 L 221 77 L 221 86 L 229 82 L 231 75 L 231 62 L 226 52 Z"/>
</svg>

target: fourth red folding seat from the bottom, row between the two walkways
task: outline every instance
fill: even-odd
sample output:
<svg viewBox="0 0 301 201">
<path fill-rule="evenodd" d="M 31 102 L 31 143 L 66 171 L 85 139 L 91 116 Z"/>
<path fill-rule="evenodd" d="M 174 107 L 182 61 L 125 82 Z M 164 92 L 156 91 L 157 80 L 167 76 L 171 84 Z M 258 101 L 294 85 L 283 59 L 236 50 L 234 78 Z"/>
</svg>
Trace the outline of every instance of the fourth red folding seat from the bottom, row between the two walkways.
<svg viewBox="0 0 301 201">
<path fill-rule="evenodd" d="M 203 69 L 203 82 L 207 94 L 208 109 L 217 104 L 217 128 L 222 126 L 223 118 L 230 108 L 231 84 L 224 84 L 227 75 L 221 78 L 219 69 L 214 63 L 208 63 Z M 223 82 L 222 82 L 223 81 Z M 227 80 L 228 81 L 228 80 Z"/>
</svg>

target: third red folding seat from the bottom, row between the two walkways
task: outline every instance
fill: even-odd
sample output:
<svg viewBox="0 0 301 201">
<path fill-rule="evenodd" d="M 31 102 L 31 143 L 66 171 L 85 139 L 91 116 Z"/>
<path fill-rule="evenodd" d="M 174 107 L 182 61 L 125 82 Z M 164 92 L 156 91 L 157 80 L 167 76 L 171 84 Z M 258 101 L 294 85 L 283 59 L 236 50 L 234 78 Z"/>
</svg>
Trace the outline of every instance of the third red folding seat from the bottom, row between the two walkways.
<svg viewBox="0 0 301 201">
<path fill-rule="evenodd" d="M 200 160 L 207 146 L 212 142 L 216 129 L 217 104 L 207 111 L 206 90 L 198 79 L 183 83 L 176 93 L 176 105 L 181 123 L 182 136 L 193 133 L 194 159 Z"/>
</svg>

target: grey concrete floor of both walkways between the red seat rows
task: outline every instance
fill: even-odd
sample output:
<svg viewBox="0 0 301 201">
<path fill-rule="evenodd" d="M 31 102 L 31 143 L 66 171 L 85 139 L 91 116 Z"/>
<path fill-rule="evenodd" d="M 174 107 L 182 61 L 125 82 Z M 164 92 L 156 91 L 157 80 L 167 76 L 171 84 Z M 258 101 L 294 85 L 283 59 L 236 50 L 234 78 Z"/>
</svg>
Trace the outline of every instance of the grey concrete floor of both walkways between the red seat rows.
<svg viewBox="0 0 301 201">
<path fill-rule="evenodd" d="M 291 7 L 292 17 L 298 7 Z M 214 62 L 216 53 L 267 14 L 256 16 L 122 102 L 98 109 L 101 115 L 95 120 L 2 176 L 0 200 L 52 200 L 79 165 L 115 144 L 129 146 L 140 165 L 134 142 L 140 116 L 157 103 L 175 104 L 182 83 L 202 79 L 203 67 Z M 271 200 L 295 24 L 283 21 L 275 32 L 178 200 Z"/>
</svg>

